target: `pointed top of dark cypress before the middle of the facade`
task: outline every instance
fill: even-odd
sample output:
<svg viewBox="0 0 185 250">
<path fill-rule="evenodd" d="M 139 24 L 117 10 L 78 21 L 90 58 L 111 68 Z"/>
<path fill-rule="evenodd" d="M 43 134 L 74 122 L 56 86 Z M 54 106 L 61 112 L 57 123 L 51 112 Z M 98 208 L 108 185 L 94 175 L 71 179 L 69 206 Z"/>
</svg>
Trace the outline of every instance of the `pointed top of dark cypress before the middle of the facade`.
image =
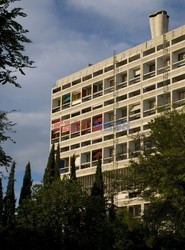
<svg viewBox="0 0 185 250">
<path fill-rule="evenodd" d="M 95 182 L 92 186 L 91 196 L 99 196 L 102 199 L 104 198 L 104 182 L 102 175 L 101 159 L 98 159 L 98 165 L 96 168 Z"/>
</svg>

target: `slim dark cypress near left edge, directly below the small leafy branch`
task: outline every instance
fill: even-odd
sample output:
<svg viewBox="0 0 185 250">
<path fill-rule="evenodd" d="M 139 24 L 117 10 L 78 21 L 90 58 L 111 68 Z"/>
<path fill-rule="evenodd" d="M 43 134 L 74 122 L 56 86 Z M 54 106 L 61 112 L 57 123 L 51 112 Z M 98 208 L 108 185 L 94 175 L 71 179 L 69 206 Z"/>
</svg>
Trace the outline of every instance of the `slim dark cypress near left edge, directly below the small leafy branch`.
<svg viewBox="0 0 185 250">
<path fill-rule="evenodd" d="M 8 185 L 6 190 L 6 196 L 4 198 L 4 222 L 5 226 L 9 229 L 13 229 L 15 223 L 15 193 L 14 193 L 14 174 L 15 174 L 15 162 L 13 162 Z"/>
</svg>

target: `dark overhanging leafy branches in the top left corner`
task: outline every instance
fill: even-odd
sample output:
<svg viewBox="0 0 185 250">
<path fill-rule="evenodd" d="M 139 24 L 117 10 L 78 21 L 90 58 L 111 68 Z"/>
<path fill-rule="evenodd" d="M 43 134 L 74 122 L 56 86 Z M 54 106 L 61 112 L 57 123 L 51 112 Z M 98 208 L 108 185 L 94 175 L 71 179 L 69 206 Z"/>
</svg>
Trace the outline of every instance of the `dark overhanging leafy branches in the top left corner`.
<svg viewBox="0 0 185 250">
<path fill-rule="evenodd" d="M 31 43 L 25 36 L 28 30 L 16 21 L 27 15 L 21 8 L 10 10 L 10 4 L 18 0 L 1 0 L 0 3 L 0 83 L 12 83 L 20 87 L 15 72 L 24 73 L 26 67 L 32 67 L 33 61 L 24 55 L 23 44 Z"/>
</svg>

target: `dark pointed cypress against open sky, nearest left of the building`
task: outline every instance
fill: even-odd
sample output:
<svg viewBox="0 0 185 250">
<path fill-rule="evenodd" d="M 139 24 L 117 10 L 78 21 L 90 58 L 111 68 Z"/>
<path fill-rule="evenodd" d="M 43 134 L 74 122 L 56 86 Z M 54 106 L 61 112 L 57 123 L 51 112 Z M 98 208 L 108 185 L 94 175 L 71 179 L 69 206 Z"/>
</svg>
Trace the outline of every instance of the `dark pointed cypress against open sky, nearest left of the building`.
<svg viewBox="0 0 185 250">
<path fill-rule="evenodd" d="M 31 166 L 30 162 L 26 165 L 25 174 L 23 179 L 23 185 L 21 188 L 19 205 L 22 203 L 24 199 L 31 197 L 31 186 L 32 186 L 32 179 L 31 179 Z"/>
</svg>

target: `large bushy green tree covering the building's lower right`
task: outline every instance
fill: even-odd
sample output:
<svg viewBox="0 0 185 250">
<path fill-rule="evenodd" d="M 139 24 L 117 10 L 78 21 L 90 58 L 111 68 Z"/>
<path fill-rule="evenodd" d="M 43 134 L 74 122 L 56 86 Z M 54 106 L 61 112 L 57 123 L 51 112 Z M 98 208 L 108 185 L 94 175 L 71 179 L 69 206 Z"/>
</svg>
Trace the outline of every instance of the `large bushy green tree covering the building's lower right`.
<svg viewBox="0 0 185 250">
<path fill-rule="evenodd" d="M 144 215 L 150 244 L 163 238 L 169 242 L 164 249 L 180 249 L 178 244 L 185 242 L 185 113 L 174 110 L 158 116 L 150 129 L 125 177 L 129 187 L 137 187 L 151 203 Z"/>
</svg>

